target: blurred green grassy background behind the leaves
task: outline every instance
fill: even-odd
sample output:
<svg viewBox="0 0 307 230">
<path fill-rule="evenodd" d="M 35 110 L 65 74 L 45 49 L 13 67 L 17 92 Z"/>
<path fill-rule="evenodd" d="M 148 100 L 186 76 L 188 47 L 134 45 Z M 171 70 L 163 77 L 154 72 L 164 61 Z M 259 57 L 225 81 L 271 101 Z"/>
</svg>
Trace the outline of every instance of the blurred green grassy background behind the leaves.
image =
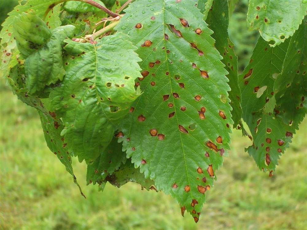
<svg viewBox="0 0 307 230">
<path fill-rule="evenodd" d="M 1 21 L 16 2 L 0 0 Z M 246 29 L 247 3 L 239 1 L 229 29 L 240 71 L 258 37 Z M 0 83 L 0 229 L 307 228 L 306 119 L 271 178 L 244 152 L 251 141 L 234 130 L 230 155 L 195 224 L 187 213 L 181 217 L 177 202 L 161 192 L 142 191 L 132 183 L 120 189 L 108 184 L 103 193 L 86 186 L 86 165 L 75 159 L 84 199 L 47 148 L 35 109 L 18 101 L 3 79 Z"/>
</svg>

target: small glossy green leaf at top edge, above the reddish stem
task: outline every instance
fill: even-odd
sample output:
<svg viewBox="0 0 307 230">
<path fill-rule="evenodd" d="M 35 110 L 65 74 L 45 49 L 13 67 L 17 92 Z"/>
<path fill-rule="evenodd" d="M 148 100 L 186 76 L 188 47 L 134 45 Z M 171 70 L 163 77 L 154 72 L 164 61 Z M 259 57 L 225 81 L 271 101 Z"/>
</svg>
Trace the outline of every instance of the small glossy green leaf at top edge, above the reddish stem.
<svg viewBox="0 0 307 230">
<path fill-rule="evenodd" d="M 101 6 L 106 7 L 103 2 L 99 0 L 93 0 Z M 69 13 L 84 13 L 84 12 L 99 12 L 101 11 L 99 8 L 92 6 L 86 2 L 78 2 L 78 1 L 68 1 L 64 5 L 64 9 Z"/>
</svg>

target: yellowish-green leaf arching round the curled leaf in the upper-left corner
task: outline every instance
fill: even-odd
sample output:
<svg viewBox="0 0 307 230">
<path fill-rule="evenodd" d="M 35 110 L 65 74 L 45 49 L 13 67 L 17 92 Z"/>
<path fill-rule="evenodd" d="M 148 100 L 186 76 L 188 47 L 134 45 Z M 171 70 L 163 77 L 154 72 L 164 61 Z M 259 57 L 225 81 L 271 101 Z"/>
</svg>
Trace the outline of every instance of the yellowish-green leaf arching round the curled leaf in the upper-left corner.
<svg viewBox="0 0 307 230">
<path fill-rule="evenodd" d="M 6 18 L 6 20 L 2 24 L 2 29 L 0 31 L 1 38 L 1 71 L 0 77 L 7 76 L 10 72 L 10 69 L 17 65 L 17 57 L 19 51 L 16 47 L 16 41 L 14 39 L 14 31 L 13 25 L 15 23 L 15 17 L 20 15 L 21 12 L 29 11 L 35 12 L 37 16 L 43 18 L 47 9 L 52 8 L 54 3 L 58 2 L 58 0 L 26 0 L 22 1 L 17 5 L 13 11 L 11 11 Z M 60 4 L 61 5 L 61 4 Z M 48 14 L 51 18 L 52 14 Z M 55 14 L 53 14 L 56 17 Z M 49 20 L 49 16 L 45 19 L 46 23 Z M 49 23 L 50 28 L 54 28 L 52 22 L 56 20 L 52 20 Z"/>
</svg>

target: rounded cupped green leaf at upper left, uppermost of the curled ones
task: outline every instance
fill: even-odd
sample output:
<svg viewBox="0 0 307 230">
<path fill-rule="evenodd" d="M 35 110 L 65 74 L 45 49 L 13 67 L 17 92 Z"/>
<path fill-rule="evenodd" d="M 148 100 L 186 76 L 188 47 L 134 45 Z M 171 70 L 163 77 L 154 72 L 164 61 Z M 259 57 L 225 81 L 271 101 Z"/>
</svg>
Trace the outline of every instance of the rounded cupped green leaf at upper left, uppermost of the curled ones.
<svg viewBox="0 0 307 230">
<path fill-rule="evenodd" d="M 17 48 L 25 58 L 47 43 L 51 37 L 45 22 L 32 12 L 23 12 L 16 17 L 13 28 Z"/>
</svg>

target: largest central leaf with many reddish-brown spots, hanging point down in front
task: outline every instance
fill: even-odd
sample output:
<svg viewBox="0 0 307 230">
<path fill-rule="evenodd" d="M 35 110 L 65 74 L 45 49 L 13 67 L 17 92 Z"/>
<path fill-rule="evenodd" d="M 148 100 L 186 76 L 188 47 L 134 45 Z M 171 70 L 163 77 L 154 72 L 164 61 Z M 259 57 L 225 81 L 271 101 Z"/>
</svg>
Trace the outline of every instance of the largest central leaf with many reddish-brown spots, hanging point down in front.
<svg viewBox="0 0 307 230">
<path fill-rule="evenodd" d="M 171 194 L 189 212 L 200 212 L 203 192 L 212 186 L 213 172 L 229 149 L 233 121 L 227 71 L 212 31 L 194 5 L 136 1 L 117 25 L 130 35 L 143 60 L 143 78 L 136 83 L 143 94 L 124 119 L 124 137 L 119 139 L 135 167 L 154 179 L 157 190 Z"/>
</svg>

